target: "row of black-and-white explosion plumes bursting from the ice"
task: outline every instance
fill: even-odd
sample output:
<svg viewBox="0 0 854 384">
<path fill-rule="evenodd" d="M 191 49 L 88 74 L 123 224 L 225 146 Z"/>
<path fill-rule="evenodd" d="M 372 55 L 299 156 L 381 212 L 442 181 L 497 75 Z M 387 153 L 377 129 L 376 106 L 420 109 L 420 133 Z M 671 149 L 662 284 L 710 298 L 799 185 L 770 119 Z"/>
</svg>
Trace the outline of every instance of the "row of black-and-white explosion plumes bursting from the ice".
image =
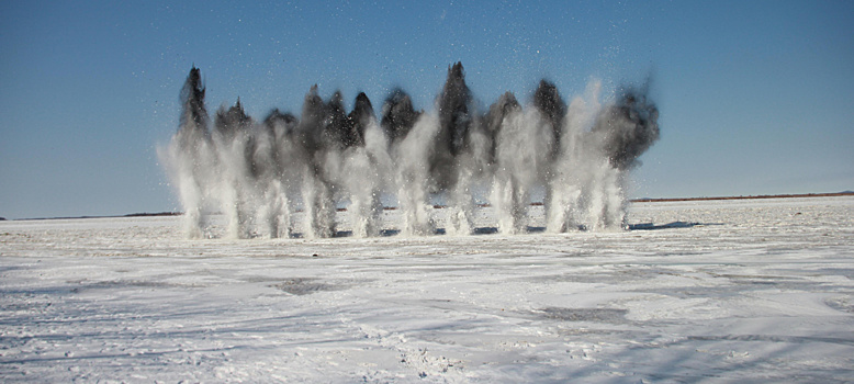
<svg viewBox="0 0 854 384">
<path fill-rule="evenodd" d="M 484 206 L 495 231 L 518 234 L 532 203 L 548 231 L 627 228 L 627 173 L 659 138 L 645 86 L 603 102 L 592 82 L 566 105 L 542 80 L 527 103 L 507 92 L 479 111 L 457 63 L 426 112 L 395 89 L 380 118 L 364 93 L 348 114 L 340 92 L 324 101 L 314 86 L 299 117 L 277 109 L 256 121 L 238 99 L 211 122 L 201 79 L 193 67 L 178 131 L 159 150 L 191 238 L 213 236 L 213 214 L 225 218 L 226 237 L 333 237 L 345 210 L 356 237 L 468 235 Z M 542 201 L 532 201 L 536 191 Z M 437 207 L 447 210 L 445 228 Z M 383 223 L 386 208 L 401 211 L 397 229 Z"/>
</svg>

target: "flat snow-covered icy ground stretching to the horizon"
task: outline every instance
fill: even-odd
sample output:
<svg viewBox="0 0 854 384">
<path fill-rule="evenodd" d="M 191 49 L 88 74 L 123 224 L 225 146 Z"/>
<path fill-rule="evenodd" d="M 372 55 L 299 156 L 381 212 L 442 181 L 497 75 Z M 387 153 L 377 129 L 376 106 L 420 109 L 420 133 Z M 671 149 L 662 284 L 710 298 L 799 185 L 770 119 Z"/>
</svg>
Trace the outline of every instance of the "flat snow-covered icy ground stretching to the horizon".
<svg viewBox="0 0 854 384">
<path fill-rule="evenodd" d="M 0 382 L 854 380 L 851 196 L 633 204 L 633 230 L 564 235 L 178 221 L 0 223 Z"/>
</svg>

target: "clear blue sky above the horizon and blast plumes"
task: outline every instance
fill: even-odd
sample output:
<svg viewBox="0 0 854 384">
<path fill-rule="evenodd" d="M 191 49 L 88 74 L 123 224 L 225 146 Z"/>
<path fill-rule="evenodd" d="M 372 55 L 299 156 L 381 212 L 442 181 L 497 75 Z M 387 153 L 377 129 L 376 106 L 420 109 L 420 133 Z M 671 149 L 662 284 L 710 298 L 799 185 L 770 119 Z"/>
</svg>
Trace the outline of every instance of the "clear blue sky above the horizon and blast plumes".
<svg viewBox="0 0 854 384">
<path fill-rule="evenodd" d="M 0 216 L 178 210 L 156 147 L 202 69 L 213 111 L 299 113 L 308 88 L 430 109 L 652 78 L 661 140 L 632 196 L 854 190 L 853 1 L 3 1 Z"/>
</svg>

